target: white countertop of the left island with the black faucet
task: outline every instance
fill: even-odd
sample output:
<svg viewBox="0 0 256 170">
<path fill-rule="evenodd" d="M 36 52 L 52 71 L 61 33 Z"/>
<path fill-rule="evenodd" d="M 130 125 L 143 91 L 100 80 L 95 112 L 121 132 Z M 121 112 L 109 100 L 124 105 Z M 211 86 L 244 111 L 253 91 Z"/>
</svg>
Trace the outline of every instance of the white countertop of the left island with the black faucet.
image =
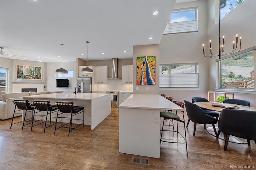
<svg viewBox="0 0 256 170">
<path fill-rule="evenodd" d="M 106 96 L 110 94 L 102 94 L 102 93 L 84 93 L 84 94 L 74 94 L 74 93 L 52 93 L 52 94 L 38 94 L 32 96 L 23 96 L 24 98 L 56 98 L 56 99 L 74 99 L 74 100 L 93 100 L 95 98 L 99 98 L 102 96 Z"/>
</svg>

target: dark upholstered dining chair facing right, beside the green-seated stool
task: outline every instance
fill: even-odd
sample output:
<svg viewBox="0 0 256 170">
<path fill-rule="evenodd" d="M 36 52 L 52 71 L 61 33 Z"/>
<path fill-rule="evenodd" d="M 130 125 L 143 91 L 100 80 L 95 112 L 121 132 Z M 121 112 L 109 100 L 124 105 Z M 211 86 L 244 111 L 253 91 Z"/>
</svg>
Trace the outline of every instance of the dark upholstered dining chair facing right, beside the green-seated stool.
<svg viewBox="0 0 256 170">
<path fill-rule="evenodd" d="M 197 106 L 196 104 L 193 104 L 187 100 L 185 102 L 185 107 L 186 107 L 186 112 L 188 115 L 188 119 L 190 119 L 192 122 L 194 122 L 194 133 L 193 136 L 195 135 L 196 132 L 196 124 L 212 124 L 212 127 L 214 129 L 214 133 L 216 135 L 216 138 L 218 139 L 217 132 L 215 125 L 217 123 L 217 119 L 205 114 L 202 109 Z"/>
</svg>

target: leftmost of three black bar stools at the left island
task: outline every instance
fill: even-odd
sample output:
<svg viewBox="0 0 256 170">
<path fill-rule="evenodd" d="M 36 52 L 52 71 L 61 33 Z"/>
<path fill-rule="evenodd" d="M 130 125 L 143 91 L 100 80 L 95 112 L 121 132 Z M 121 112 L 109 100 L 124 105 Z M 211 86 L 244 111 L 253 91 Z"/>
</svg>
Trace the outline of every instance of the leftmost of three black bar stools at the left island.
<svg viewBox="0 0 256 170">
<path fill-rule="evenodd" d="M 32 115 L 33 115 L 33 110 L 35 109 L 35 107 L 33 105 L 30 105 L 28 100 L 15 99 L 12 102 L 14 103 L 15 108 L 14 108 L 14 112 L 13 112 L 13 116 L 12 116 L 12 123 L 11 123 L 10 129 L 12 129 L 12 125 L 14 125 L 16 123 L 22 123 L 22 130 L 23 130 L 23 127 L 25 126 L 25 123 L 26 123 L 26 125 L 29 125 L 31 123 L 31 122 L 26 122 L 26 121 L 32 119 L 32 118 L 26 119 L 26 114 L 28 112 L 32 111 Z M 25 113 L 23 113 L 23 110 L 26 110 Z M 13 123 L 13 118 L 14 118 L 15 114 L 24 115 L 23 120 L 19 121 L 19 122 L 16 122 L 16 123 Z"/>
</svg>

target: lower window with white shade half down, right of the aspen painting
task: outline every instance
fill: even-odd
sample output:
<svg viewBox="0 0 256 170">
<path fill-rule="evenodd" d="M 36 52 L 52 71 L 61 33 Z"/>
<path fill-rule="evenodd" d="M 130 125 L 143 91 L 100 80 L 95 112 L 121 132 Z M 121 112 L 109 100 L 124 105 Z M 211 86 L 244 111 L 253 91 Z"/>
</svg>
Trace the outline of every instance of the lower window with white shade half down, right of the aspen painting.
<svg viewBox="0 0 256 170">
<path fill-rule="evenodd" d="M 160 88 L 198 88 L 198 63 L 160 64 Z"/>
</svg>

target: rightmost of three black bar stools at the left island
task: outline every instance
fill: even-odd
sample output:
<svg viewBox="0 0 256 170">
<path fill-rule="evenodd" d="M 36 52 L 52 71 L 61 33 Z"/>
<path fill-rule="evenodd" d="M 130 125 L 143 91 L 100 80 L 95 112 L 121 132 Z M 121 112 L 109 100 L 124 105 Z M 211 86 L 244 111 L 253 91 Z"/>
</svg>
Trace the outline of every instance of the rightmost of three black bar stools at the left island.
<svg viewBox="0 0 256 170">
<path fill-rule="evenodd" d="M 84 126 L 84 107 L 83 106 L 74 106 L 74 103 L 73 102 L 64 102 L 64 101 L 59 101 L 59 102 L 56 102 L 56 105 L 58 107 L 58 113 L 57 113 L 57 117 L 56 117 L 56 124 L 55 124 L 55 130 L 54 130 L 54 134 L 56 132 L 56 129 L 59 129 L 61 127 L 65 127 L 66 125 L 69 124 L 69 127 L 65 127 L 65 128 L 69 128 L 69 131 L 68 131 L 68 136 L 70 134 L 70 132 L 74 129 L 76 129 L 77 127 L 79 127 L 80 125 L 83 125 Z M 59 113 L 60 111 L 60 113 Z M 63 113 L 70 113 L 70 117 L 63 117 Z M 83 114 L 83 119 L 74 119 L 73 117 L 75 115 L 78 115 L 82 113 Z M 61 118 L 61 121 L 58 121 L 58 118 Z M 70 122 L 69 123 L 65 123 L 64 125 L 57 127 L 57 123 L 61 122 L 62 123 L 62 119 L 63 118 L 68 118 L 70 119 Z M 75 126 L 75 127 L 71 127 L 72 125 L 72 120 L 80 120 L 80 121 L 83 121 L 83 123 Z M 71 129 L 71 130 L 70 130 Z"/>
</svg>

